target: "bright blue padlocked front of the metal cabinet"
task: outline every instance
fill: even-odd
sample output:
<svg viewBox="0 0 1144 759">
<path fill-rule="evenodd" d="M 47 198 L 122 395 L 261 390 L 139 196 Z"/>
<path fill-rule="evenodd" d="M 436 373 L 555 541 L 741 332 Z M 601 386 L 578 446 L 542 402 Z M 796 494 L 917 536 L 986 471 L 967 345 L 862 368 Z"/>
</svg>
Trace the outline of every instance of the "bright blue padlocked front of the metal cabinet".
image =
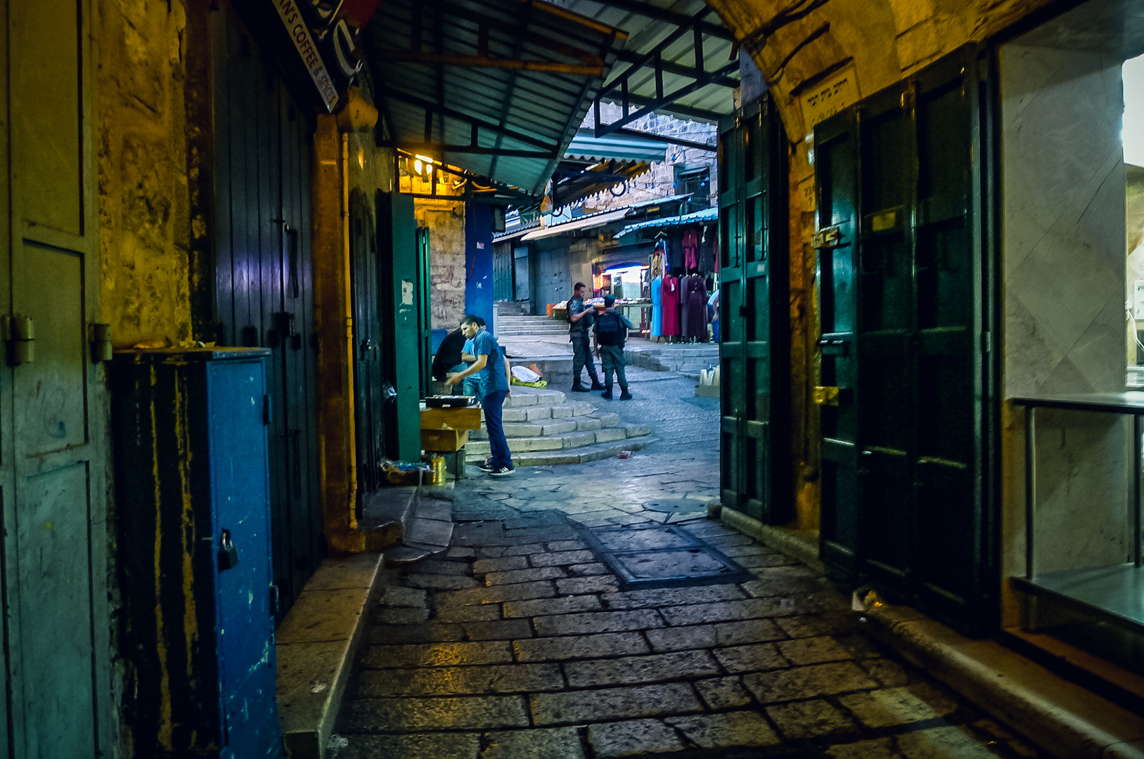
<svg viewBox="0 0 1144 759">
<path fill-rule="evenodd" d="M 262 361 L 219 361 L 207 374 L 213 528 L 220 546 L 219 654 L 227 738 L 221 756 L 238 759 L 276 757 L 281 749 L 275 700 L 265 466 L 270 409 L 264 371 Z M 222 556 L 228 537 L 237 562 Z"/>
</svg>

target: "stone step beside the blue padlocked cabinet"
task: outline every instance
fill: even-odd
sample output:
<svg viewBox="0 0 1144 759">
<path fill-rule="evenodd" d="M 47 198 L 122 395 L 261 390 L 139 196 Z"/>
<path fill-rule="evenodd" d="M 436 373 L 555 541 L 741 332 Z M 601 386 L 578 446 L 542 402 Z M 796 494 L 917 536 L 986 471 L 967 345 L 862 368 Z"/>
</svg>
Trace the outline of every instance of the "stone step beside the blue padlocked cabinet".
<svg viewBox="0 0 1144 759">
<path fill-rule="evenodd" d="M 365 636 L 380 553 L 326 559 L 278 625 L 278 719 L 291 759 L 324 759 Z"/>
</svg>

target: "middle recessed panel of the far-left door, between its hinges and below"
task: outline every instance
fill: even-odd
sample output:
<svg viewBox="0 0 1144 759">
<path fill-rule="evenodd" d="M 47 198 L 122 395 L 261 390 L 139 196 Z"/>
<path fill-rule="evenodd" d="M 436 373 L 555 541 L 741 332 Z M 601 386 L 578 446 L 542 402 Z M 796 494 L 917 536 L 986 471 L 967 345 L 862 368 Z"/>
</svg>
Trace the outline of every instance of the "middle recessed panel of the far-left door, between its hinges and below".
<svg viewBox="0 0 1144 759">
<path fill-rule="evenodd" d="M 35 242 L 17 249 L 13 310 L 32 317 L 35 360 L 19 367 L 16 437 L 39 456 L 87 441 L 84 259 Z"/>
</svg>

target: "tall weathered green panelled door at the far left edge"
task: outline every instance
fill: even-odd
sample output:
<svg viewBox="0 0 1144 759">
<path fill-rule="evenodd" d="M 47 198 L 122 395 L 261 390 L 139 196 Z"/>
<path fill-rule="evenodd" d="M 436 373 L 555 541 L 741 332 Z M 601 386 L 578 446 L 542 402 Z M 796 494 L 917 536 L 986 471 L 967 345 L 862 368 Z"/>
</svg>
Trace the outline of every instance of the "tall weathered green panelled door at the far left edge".
<svg viewBox="0 0 1144 759">
<path fill-rule="evenodd" d="M 8 341 L 0 363 L 9 700 L 0 740 L 19 758 L 94 757 L 116 738 L 108 401 L 88 346 L 100 294 L 90 8 L 18 0 L 0 14 L 0 91 L 10 115 L 0 127 L 8 177 L 0 189 L 0 314 L 31 318 L 34 328 L 34 355 L 16 355 Z"/>
</svg>

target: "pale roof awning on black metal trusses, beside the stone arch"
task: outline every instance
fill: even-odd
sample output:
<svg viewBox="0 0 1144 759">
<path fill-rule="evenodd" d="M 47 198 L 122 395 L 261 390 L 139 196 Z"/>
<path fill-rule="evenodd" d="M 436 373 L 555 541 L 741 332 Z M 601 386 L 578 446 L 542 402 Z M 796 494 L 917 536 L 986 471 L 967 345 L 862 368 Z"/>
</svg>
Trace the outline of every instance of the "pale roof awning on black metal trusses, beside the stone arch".
<svg viewBox="0 0 1144 759">
<path fill-rule="evenodd" d="M 648 113 L 714 122 L 734 109 L 739 56 L 734 34 L 705 0 L 565 0 L 565 8 L 622 29 L 619 53 L 596 102 L 619 103 L 625 115 L 596 119 L 596 135 L 615 131 Z"/>
</svg>

